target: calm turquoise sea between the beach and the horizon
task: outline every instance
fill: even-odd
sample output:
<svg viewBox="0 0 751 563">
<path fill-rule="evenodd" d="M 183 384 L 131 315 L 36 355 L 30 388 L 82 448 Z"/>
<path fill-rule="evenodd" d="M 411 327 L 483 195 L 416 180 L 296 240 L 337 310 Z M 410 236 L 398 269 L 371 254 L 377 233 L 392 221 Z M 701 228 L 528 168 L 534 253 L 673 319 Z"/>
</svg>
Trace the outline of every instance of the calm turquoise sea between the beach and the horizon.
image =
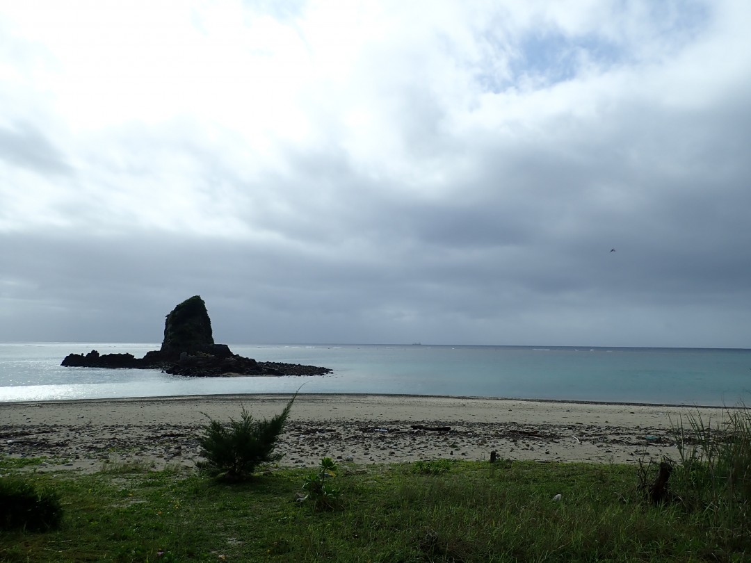
<svg viewBox="0 0 751 563">
<path fill-rule="evenodd" d="M 385 393 L 735 405 L 749 402 L 751 350 L 433 345 L 231 345 L 259 361 L 325 366 L 315 378 L 182 378 L 63 368 L 92 349 L 137 357 L 156 343 L 0 344 L 0 402 L 225 393 Z"/>
</svg>

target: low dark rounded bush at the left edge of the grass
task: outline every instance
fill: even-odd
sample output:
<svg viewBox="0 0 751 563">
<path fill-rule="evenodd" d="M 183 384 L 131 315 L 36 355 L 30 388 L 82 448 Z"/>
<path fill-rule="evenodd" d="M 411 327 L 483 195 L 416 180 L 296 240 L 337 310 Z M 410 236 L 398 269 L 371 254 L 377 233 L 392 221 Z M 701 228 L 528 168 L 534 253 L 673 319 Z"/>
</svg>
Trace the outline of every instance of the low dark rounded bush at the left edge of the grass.
<svg viewBox="0 0 751 563">
<path fill-rule="evenodd" d="M 56 492 L 38 491 L 32 483 L 16 477 L 0 477 L 0 529 L 44 531 L 57 528 L 61 521 Z"/>
</svg>

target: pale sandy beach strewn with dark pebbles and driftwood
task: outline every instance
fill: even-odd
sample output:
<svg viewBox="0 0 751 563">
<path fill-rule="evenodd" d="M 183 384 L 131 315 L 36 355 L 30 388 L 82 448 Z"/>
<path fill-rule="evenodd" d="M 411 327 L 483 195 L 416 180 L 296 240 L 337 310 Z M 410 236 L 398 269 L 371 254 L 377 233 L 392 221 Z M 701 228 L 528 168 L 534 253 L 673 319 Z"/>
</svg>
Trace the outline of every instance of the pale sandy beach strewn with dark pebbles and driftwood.
<svg viewBox="0 0 751 563">
<path fill-rule="evenodd" d="M 0 404 L 0 453 L 46 456 L 35 471 L 99 471 L 111 463 L 195 468 L 207 416 L 256 418 L 289 396 L 196 396 Z M 721 408 L 435 396 L 300 395 L 279 453 L 295 467 L 330 456 L 356 464 L 501 458 L 541 462 L 677 459 L 671 426 Z M 724 415 L 724 416 L 723 416 Z"/>
</svg>

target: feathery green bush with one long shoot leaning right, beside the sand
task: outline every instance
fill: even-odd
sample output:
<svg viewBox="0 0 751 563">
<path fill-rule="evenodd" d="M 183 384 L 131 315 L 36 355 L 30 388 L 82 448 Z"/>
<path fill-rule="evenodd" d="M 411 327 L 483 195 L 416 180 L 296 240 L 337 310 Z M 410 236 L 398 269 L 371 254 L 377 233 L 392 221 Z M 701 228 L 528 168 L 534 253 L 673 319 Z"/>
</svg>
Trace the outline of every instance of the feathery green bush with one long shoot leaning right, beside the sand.
<svg viewBox="0 0 751 563">
<path fill-rule="evenodd" d="M 284 411 L 270 420 L 255 420 L 244 406 L 240 420 L 231 418 L 229 423 L 223 424 L 209 417 L 209 424 L 204 428 L 206 434 L 200 442 L 201 456 L 206 461 L 199 462 L 198 466 L 228 480 L 245 480 L 261 463 L 280 459 L 282 456 L 274 454 L 273 450 L 295 397 L 297 393 Z"/>
</svg>

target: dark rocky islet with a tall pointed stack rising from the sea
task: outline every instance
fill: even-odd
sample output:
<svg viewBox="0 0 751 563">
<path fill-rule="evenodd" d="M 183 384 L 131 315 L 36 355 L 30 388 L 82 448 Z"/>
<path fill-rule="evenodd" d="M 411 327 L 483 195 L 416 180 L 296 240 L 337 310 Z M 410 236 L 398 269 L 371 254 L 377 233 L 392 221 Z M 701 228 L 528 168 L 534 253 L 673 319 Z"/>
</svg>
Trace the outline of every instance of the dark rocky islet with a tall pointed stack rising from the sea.
<svg viewBox="0 0 751 563">
<path fill-rule="evenodd" d="M 68 354 L 62 366 L 86 368 L 161 369 L 173 375 L 217 377 L 228 375 L 324 375 L 331 370 L 317 366 L 257 362 L 233 354 L 226 344 L 215 344 L 211 320 L 201 296 L 183 301 L 164 321 L 164 340 L 159 350 L 143 358 L 133 354 Z"/>
</svg>

